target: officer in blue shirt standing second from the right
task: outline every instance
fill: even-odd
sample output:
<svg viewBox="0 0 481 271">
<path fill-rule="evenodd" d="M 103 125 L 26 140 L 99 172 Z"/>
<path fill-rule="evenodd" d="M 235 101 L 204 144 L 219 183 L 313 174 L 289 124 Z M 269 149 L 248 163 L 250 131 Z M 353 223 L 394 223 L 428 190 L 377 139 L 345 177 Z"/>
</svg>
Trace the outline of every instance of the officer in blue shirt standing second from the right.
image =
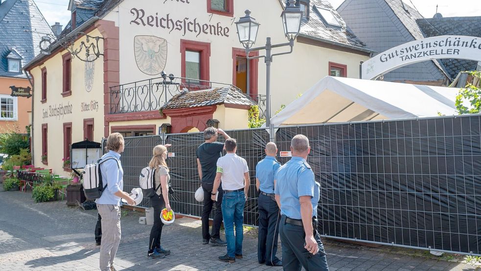
<svg viewBox="0 0 481 271">
<path fill-rule="evenodd" d="M 274 174 L 280 168 L 280 163 L 275 159 L 276 153 L 275 143 L 267 143 L 266 158 L 255 167 L 255 187 L 259 191 L 257 259 L 259 264 L 265 263 L 268 266 L 282 266 L 282 261 L 275 257 L 280 220 L 279 207 L 274 197 Z"/>
</svg>

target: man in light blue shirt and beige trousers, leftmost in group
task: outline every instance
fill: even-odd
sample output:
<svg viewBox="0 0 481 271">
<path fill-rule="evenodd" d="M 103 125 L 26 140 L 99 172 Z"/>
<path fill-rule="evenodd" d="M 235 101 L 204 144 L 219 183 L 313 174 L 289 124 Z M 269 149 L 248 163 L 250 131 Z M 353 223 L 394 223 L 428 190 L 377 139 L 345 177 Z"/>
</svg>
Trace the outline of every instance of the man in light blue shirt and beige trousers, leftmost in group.
<svg viewBox="0 0 481 271">
<path fill-rule="evenodd" d="M 101 196 L 95 200 L 97 210 L 102 217 L 102 239 L 100 245 L 100 270 L 115 271 L 114 258 L 120 243 L 120 199 L 130 205 L 135 200 L 123 192 L 123 170 L 120 164 L 120 153 L 124 150 L 124 138 L 113 133 L 107 139 L 109 150 L 98 162 L 103 184 Z"/>
</svg>

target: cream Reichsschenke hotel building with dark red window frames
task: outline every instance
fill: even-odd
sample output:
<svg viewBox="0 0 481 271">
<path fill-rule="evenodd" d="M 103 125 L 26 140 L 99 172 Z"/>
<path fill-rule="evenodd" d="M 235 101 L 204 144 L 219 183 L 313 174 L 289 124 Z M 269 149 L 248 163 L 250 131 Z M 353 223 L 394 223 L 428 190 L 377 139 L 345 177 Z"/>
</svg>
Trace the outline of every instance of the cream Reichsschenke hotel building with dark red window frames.
<svg viewBox="0 0 481 271">
<path fill-rule="evenodd" d="M 325 1 L 298 5 L 305 13 L 294 51 L 272 65 L 272 113 L 326 75 L 359 78 L 360 61 L 372 53 Z M 60 39 L 28 64 L 26 70 L 42 78 L 35 80 L 35 163 L 43 157 L 62 171 L 72 142 L 99 142 L 114 131 L 151 135 L 162 124 L 170 132 L 198 131 L 206 120 L 246 128 L 251 102 L 265 100 L 266 68 L 259 59 L 246 59 L 234 23 L 251 9 L 261 24 L 254 46 L 268 36 L 285 43 L 279 17 L 284 6 L 279 0 L 71 0 L 72 21 L 63 35 L 79 33 L 74 48 L 98 38 L 103 55 L 80 61 Z M 216 96 L 230 85 L 243 96 Z M 186 91 L 211 95 L 188 105 L 169 103 Z"/>
</svg>

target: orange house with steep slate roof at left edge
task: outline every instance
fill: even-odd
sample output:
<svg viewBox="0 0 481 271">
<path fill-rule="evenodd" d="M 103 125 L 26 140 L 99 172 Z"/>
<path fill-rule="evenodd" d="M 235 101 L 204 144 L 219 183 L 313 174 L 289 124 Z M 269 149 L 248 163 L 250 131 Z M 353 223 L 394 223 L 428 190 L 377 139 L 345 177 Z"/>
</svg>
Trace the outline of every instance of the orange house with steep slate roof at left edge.
<svg viewBox="0 0 481 271">
<path fill-rule="evenodd" d="M 23 66 L 40 52 L 40 33 L 52 33 L 33 0 L 0 1 L 0 133 L 26 133 L 32 99 L 11 96 L 12 88 L 31 89 Z"/>
</svg>

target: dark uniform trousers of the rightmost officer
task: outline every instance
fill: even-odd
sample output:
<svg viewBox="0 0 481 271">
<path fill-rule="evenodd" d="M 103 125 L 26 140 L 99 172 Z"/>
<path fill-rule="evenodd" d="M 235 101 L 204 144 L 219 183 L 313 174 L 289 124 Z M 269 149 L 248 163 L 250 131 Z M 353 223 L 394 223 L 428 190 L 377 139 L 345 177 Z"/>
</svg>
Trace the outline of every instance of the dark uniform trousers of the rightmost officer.
<svg viewBox="0 0 481 271">
<path fill-rule="evenodd" d="M 286 223 L 286 216 L 282 216 L 279 226 L 280 241 L 282 243 L 282 267 L 285 271 L 300 271 L 304 267 L 306 271 L 328 271 L 327 259 L 321 237 L 314 229 L 319 252 L 311 254 L 304 248 L 306 235 L 304 227 Z"/>
</svg>

